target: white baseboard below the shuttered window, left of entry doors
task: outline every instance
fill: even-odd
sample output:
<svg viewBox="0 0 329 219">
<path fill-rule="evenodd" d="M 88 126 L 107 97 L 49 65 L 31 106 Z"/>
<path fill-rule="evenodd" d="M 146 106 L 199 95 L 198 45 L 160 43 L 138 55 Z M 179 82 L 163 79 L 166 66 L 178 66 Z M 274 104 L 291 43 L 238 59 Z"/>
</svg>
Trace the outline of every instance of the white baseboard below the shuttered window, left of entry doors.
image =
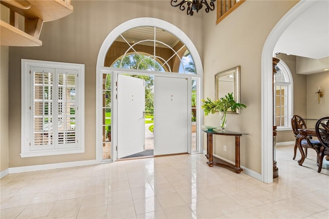
<svg viewBox="0 0 329 219">
<path fill-rule="evenodd" d="M 80 166 L 88 166 L 88 165 L 96 165 L 98 164 L 96 160 L 88 160 L 88 161 L 74 161 L 74 162 L 65 162 L 65 163 L 57 163 L 57 164 L 42 164 L 42 165 L 33 165 L 33 166 L 24 166 L 24 167 L 10 167 L 8 168 L 8 173 L 23 173 L 23 172 L 32 172 L 32 171 L 40 171 L 40 170 L 52 170 L 59 168 L 67 168 L 67 167 L 80 167 Z M 8 174 L 7 173 L 7 174 Z"/>
</svg>

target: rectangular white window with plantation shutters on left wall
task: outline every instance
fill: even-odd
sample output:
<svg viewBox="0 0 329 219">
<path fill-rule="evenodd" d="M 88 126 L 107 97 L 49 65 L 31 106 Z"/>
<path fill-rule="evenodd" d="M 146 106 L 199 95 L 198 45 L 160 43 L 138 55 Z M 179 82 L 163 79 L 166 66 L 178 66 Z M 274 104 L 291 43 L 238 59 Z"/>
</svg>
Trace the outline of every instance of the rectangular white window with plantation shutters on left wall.
<svg viewBox="0 0 329 219">
<path fill-rule="evenodd" d="M 46 63 L 24 65 L 22 157 L 84 152 L 84 66 Z"/>
</svg>

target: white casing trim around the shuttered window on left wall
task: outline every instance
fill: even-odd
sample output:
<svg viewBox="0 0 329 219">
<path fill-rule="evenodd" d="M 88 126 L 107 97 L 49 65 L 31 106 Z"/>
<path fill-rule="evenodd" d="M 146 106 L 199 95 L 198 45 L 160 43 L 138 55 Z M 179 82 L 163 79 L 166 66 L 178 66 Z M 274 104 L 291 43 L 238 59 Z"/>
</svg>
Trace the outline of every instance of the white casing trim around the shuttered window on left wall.
<svg viewBox="0 0 329 219">
<path fill-rule="evenodd" d="M 84 65 L 83 64 L 71 64 L 71 63 L 59 63 L 49 61 L 38 61 L 31 59 L 22 59 L 21 61 L 21 76 L 22 76 L 22 121 L 21 121 L 21 157 L 33 157 L 33 156 L 46 156 L 46 155 L 59 155 L 59 154 L 72 154 L 84 152 Z M 33 133 L 30 131 L 33 129 L 33 78 L 30 69 L 32 67 L 38 68 L 53 68 L 53 69 L 67 69 L 77 71 L 76 77 L 76 93 L 77 93 L 77 113 L 76 113 L 76 144 L 72 144 L 70 148 L 63 148 L 59 146 L 57 148 L 48 149 L 33 149 Z M 53 108 L 56 110 L 56 107 Z M 46 146 L 47 148 L 47 146 Z"/>
</svg>

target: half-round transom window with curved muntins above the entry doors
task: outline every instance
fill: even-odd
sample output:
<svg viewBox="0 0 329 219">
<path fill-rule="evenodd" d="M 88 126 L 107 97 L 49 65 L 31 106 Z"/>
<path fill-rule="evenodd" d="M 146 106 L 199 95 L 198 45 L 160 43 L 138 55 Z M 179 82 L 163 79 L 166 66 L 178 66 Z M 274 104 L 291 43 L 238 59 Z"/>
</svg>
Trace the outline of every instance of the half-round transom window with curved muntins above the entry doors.
<svg viewBox="0 0 329 219">
<path fill-rule="evenodd" d="M 104 66 L 196 74 L 189 50 L 174 34 L 152 26 L 121 33 L 107 51 Z M 145 69 L 145 67 L 147 67 Z"/>
</svg>

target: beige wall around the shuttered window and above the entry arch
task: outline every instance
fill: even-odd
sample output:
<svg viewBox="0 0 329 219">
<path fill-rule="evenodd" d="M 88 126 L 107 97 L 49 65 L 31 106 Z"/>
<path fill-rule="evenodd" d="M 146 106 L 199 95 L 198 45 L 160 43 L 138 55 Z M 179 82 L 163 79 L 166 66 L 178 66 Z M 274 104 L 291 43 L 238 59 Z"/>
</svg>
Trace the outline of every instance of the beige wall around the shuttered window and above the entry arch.
<svg viewBox="0 0 329 219">
<path fill-rule="evenodd" d="M 9 167 L 96 158 L 96 61 L 105 37 L 123 22 L 136 17 L 163 19 L 184 31 L 200 56 L 203 54 L 202 14 L 187 16 L 169 1 L 72 1 L 71 4 L 73 13 L 44 23 L 40 35 L 43 46 L 9 49 Z M 85 64 L 85 153 L 21 158 L 21 58 Z"/>
</svg>

